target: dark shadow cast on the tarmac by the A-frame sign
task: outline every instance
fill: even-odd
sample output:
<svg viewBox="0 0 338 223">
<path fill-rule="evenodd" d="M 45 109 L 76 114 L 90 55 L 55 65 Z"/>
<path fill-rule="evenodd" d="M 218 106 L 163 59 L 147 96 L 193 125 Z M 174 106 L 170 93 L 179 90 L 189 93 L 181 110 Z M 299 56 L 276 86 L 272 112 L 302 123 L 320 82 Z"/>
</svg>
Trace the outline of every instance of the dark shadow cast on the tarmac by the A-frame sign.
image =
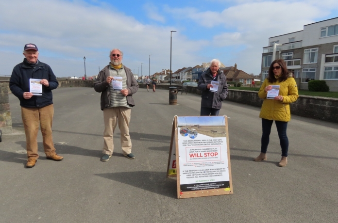
<svg viewBox="0 0 338 223">
<path fill-rule="evenodd" d="M 176 198 L 176 179 L 167 178 L 166 172 L 136 171 L 96 175 L 152 193 Z"/>
</svg>

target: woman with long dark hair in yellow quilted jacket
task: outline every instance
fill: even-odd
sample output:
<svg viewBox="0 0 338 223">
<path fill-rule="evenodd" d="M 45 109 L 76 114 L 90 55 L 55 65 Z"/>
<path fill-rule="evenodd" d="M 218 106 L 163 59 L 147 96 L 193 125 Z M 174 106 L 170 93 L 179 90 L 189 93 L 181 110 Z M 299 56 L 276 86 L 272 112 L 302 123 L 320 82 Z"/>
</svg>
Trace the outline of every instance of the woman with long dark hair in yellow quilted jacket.
<svg viewBox="0 0 338 223">
<path fill-rule="evenodd" d="M 279 85 L 278 96 L 273 99 L 267 99 L 268 91 L 272 85 Z M 259 117 L 262 118 L 262 144 L 261 153 L 254 161 L 267 159 L 267 149 L 270 140 L 270 131 L 273 121 L 275 121 L 279 142 L 282 147 L 282 159 L 279 166 L 287 165 L 287 122 L 291 119 L 289 103 L 295 102 L 298 98 L 298 89 L 296 81 L 289 75 L 287 64 L 284 60 L 275 60 L 269 68 L 269 77 L 264 80 L 258 91 L 258 96 L 263 98 L 263 105 Z"/>
</svg>

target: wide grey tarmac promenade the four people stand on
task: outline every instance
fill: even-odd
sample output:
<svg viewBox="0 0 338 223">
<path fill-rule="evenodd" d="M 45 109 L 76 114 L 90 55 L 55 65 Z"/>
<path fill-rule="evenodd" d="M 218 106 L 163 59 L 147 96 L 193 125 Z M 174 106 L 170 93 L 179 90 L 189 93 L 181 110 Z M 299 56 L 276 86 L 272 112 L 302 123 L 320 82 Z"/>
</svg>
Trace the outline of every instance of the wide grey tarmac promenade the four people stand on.
<svg viewBox="0 0 338 223">
<path fill-rule="evenodd" d="M 278 167 L 275 127 L 268 161 L 259 154 L 259 109 L 225 102 L 229 119 L 234 194 L 176 198 L 175 178 L 166 178 L 174 115 L 199 115 L 200 96 L 139 89 L 132 110 L 136 159 L 122 156 L 119 131 L 115 151 L 101 162 L 103 117 L 100 94 L 92 88 L 59 88 L 54 94 L 53 139 L 65 159 L 26 162 L 20 107 L 10 95 L 14 133 L 0 143 L 0 222 L 262 222 L 330 223 L 338 219 L 338 124 L 292 116 L 288 124 L 288 165 Z"/>
</svg>

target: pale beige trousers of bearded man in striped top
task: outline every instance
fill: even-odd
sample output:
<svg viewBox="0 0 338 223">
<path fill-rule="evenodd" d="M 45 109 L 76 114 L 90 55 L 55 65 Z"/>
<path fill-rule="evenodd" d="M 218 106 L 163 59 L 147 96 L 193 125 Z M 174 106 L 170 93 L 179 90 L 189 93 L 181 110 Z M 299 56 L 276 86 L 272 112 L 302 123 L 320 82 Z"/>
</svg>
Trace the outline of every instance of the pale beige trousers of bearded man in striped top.
<svg viewBox="0 0 338 223">
<path fill-rule="evenodd" d="M 124 155 L 132 153 L 132 141 L 129 135 L 131 109 L 114 107 L 103 109 L 104 132 L 103 154 L 112 155 L 114 151 L 113 134 L 118 124 L 121 132 L 121 147 Z"/>
</svg>

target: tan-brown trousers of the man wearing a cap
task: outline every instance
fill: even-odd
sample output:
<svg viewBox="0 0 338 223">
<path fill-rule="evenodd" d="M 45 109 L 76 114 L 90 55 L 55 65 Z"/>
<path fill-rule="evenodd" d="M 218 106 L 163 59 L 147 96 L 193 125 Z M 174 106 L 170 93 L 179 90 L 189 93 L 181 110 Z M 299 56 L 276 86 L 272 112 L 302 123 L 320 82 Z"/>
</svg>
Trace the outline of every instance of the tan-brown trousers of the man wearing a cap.
<svg viewBox="0 0 338 223">
<path fill-rule="evenodd" d="M 54 107 L 48 105 L 43 108 L 21 107 L 23 127 L 26 133 L 26 149 L 28 158 L 39 158 L 37 154 L 37 132 L 39 124 L 42 133 L 43 149 L 46 156 L 55 155 L 53 138 L 51 136 L 51 125 L 53 123 Z"/>
</svg>

